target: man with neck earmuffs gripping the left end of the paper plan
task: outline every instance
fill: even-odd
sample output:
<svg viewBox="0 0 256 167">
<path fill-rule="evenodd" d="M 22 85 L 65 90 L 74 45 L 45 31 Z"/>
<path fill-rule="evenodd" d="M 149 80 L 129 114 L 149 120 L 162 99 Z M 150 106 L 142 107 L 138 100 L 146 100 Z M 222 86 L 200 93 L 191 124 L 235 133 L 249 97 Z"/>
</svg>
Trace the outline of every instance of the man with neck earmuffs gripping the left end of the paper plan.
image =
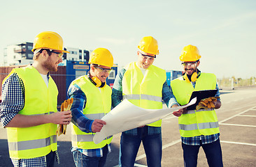
<svg viewBox="0 0 256 167">
<path fill-rule="evenodd" d="M 113 67 L 113 56 L 108 49 L 97 48 L 90 54 L 90 72 L 72 81 L 68 97 L 73 97 L 72 148 L 76 166 L 104 166 L 108 152 L 111 152 L 112 136 L 99 144 L 93 136 L 106 125 L 103 116 L 111 111 L 111 87 L 106 78 Z"/>
</svg>

